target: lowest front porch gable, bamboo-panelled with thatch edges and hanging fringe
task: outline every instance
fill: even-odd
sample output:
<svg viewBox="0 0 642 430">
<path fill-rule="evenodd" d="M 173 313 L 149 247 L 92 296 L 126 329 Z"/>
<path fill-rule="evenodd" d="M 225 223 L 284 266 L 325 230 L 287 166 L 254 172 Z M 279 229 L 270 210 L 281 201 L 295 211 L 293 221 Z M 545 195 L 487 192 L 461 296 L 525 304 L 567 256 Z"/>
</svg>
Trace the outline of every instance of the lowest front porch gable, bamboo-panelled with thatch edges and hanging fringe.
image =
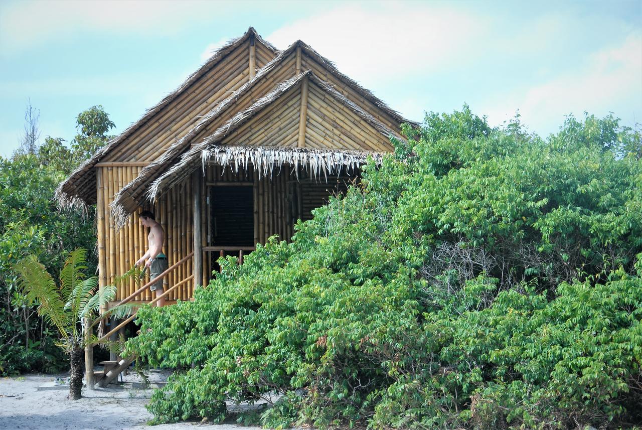
<svg viewBox="0 0 642 430">
<path fill-rule="evenodd" d="M 297 135 L 303 85 L 308 87 L 311 97 L 316 95 L 315 103 L 321 104 L 320 110 L 327 108 L 332 112 L 326 112 L 326 115 L 311 108 L 308 112 L 309 127 L 306 127 L 304 136 L 306 148 L 293 148 L 299 142 Z M 268 128 L 267 125 L 273 120 L 282 126 Z M 327 132 L 320 132 L 318 129 L 315 131 L 315 121 L 318 121 L 318 127 L 327 129 Z M 313 176 L 321 173 L 327 175 L 334 169 L 355 167 L 363 162 L 369 153 L 379 157 L 380 153 L 392 151 L 389 141 L 391 136 L 403 139 L 399 132 L 383 125 L 314 73 L 306 71 L 282 82 L 254 105 L 220 126 L 213 135 L 200 144 L 195 144 L 182 155 L 179 162 L 172 164 L 153 182 L 147 196 L 143 195 L 147 191 L 143 184 L 137 188 L 130 186 L 127 187 L 128 190 L 123 189 L 112 203 L 112 214 L 119 222 L 123 222 L 143 200 L 153 200 L 171 184 L 184 180 L 201 162 L 221 162 L 222 153 L 227 154 L 226 159 L 229 162 L 236 163 L 244 159 L 246 167 L 248 160 L 259 162 L 256 168 L 259 169 L 260 175 L 269 175 L 270 169 L 275 166 L 274 162 L 278 160 L 294 165 L 303 163 Z M 237 149 L 232 153 L 221 151 L 224 146 Z M 256 148 L 241 150 L 239 146 Z M 268 148 L 270 146 L 290 148 Z M 259 156 L 261 153 L 264 155 Z M 267 169 L 268 167 L 270 169 Z M 139 197 L 134 198 L 133 194 Z"/>
</svg>

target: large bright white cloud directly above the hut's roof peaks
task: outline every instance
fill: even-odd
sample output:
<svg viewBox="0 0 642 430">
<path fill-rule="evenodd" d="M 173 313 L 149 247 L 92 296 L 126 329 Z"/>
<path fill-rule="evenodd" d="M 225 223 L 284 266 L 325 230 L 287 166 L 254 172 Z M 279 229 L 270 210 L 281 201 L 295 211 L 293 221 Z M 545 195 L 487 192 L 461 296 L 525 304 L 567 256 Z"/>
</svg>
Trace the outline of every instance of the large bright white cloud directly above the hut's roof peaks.
<svg viewBox="0 0 642 430">
<path fill-rule="evenodd" d="M 366 87 L 408 71 L 429 73 L 476 53 L 489 32 L 472 12 L 437 3 L 347 3 L 266 37 L 284 49 L 301 39 Z M 473 44 L 474 45 L 474 44 Z"/>
</svg>

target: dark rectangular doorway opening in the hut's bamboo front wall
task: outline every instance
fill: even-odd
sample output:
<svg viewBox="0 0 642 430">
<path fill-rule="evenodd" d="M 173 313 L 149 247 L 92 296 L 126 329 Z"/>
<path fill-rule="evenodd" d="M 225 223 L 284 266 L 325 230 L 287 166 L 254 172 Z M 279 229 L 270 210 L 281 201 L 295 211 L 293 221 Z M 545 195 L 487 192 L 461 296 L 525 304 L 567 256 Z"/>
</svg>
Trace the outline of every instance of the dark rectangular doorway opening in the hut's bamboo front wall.
<svg viewBox="0 0 642 430">
<path fill-rule="evenodd" d="M 210 188 L 210 246 L 254 246 L 254 191 L 246 185 Z"/>
</svg>

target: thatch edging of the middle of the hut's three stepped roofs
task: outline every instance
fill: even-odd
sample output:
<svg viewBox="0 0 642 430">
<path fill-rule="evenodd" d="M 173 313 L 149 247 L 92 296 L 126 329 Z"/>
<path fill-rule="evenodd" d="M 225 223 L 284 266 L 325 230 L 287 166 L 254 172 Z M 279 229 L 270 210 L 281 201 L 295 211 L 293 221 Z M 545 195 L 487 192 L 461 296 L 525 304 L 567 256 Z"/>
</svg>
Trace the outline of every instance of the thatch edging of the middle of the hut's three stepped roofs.
<svg viewBox="0 0 642 430">
<path fill-rule="evenodd" d="M 229 98 L 221 101 L 216 107 L 214 107 L 207 115 L 205 115 L 189 132 L 179 139 L 175 144 L 172 144 L 168 150 L 163 153 L 159 159 L 153 161 L 148 166 L 143 168 L 137 178 L 132 182 L 127 184 L 114 198 L 114 206 L 122 205 L 123 207 L 132 208 L 131 211 L 135 210 L 136 205 L 144 200 L 144 193 L 150 187 L 153 181 L 159 178 L 165 171 L 167 171 L 171 166 L 180 161 L 180 155 L 182 155 L 187 149 L 193 140 L 193 138 L 198 135 L 198 133 L 203 130 L 207 125 L 211 124 L 215 119 L 229 115 L 230 108 L 234 106 L 234 102 L 246 94 L 252 87 L 261 82 L 270 75 L 273 71 L 277 71 L 279 66 L 282 64 L 285 58 L 288 58 L 295 50 L 300 47 L 304 55 L 308 55 L 318 64 L 322 65 L 327 69 L 328 73 L 334 74 L 340 81 L 344 82 L 346 85 L 351 87 L 353 90 L 361 94 L 364 98 L 368 99 L 371 103 L 381 108 L 386 114 L 390 115 L 395 121 L 401 123 L 410 123 L 415 126 L 419 124 L 409 121 L 402 117 L 398 112 L 392 110 L 386 103 L 381 101 L 370 92 L 369 90 L 361 87 L 358 83 L 351 80 L 345 74 L 340 73 L 338 69 L 334 66 L 333 62 L 320 55 L 312 47 L 308 46 L 301 40 L 297 40 L 291 44 L 287 49 L 279 51 L 277 56 L 273 60 L 266 64 L 265 67 L 260 69 L 256 76 L 249 82 L 245 83 L 241 88 L 236 90 Z"/>
</svg>

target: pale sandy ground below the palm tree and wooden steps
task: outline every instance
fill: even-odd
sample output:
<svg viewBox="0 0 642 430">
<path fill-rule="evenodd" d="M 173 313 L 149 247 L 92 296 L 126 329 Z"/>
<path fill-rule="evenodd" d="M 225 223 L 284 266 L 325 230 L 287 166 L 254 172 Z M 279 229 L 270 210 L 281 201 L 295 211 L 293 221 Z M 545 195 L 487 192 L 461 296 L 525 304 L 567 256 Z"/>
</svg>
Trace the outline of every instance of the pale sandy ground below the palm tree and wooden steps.
<svg viewBox="0 0 642 430">
<path fill-rule="evenodd" d="M 152 382 L 164 380 L 166 374 L 151 372 Z M 152 395 L 150 388 L 134 388 L 125 384 L 110 388 L 88 391 L 83 388 L 83 398 L 76 401 L 67 399 L 65 390 L 37 391 L 44 383 L 56 377 L 67 375 L 23 375 L 0 378 L 0 429 L 2 430 L 169 430 L 169 429 L 211 429 L 211 430 L 257 430 L 259 427 L 230 424 L 209 424 L 184 422 L 150 427 L 146 424 L 152 418 L 145 404 Z M 137 375 L 128 375 L 125 382 L 135 382 Z"/>
</svg>

